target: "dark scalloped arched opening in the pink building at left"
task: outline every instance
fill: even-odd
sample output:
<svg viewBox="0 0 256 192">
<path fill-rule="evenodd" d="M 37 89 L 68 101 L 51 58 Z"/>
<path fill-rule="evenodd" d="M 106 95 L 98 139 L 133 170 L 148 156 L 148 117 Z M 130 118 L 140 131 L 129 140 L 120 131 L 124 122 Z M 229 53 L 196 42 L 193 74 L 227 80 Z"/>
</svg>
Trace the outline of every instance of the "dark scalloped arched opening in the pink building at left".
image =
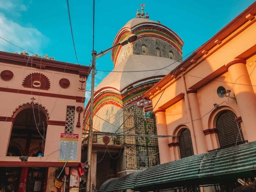
<svg viewBox="0 0 256 192">
<path fill-rule="evenodd" d="M 26 104 L 15 114 L 7 156 L 43 156 L 48 116 L 38 104 Z"/>
</svg>

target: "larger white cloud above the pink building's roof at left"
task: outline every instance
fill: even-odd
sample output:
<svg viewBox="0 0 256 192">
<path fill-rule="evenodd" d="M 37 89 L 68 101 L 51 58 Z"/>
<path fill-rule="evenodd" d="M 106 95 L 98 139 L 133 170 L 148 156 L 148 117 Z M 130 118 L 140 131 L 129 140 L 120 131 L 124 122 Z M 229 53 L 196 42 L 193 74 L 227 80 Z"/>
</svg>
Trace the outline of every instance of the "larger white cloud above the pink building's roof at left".
<svg viewBox="0 0 256 192">
<path fill-rule="evenodd" d="M 19 23 L 6 18 L 2 13 L 0 13 L 0 26 L 0 37 L 20 46 L 23 49 L 38 53 L 39 55 L 40 47 L 43 44 L 47 44 L 49 41 L 48 38 L 36 28 L 21 26 Z M 0 39 L 0 50 L 7 52 L 23 52 L 22 49 L 17 48 L 3 39 Z"/>
</svg>

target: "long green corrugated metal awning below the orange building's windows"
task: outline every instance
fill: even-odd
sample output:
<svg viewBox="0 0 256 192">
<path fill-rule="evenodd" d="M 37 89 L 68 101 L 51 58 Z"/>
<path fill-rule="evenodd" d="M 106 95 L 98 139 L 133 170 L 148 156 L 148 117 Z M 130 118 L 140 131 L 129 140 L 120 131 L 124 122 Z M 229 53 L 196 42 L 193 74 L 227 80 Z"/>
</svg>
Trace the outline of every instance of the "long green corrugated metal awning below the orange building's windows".
<svg viewBox="0 0 256 192">
<path fill-rule="evenodd" d="M 147 191 L 182 186 L 184 183 L 212 184 L 223 179 L 253 176 L 253 170 L 256 170 L 256 141 L 186 157 L 107 180 L 100 191 Z"/>
</svg>

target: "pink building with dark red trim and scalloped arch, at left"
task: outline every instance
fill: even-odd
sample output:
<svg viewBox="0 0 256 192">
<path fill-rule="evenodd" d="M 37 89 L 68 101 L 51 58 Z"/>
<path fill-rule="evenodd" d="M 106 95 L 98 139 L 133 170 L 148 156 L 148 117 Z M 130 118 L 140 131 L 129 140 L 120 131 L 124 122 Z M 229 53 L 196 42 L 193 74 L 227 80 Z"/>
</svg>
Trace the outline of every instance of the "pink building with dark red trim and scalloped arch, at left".
<svg viewBox="0 0 256 192">
<path fill-rule="evenodd" d="M 79 188 L 85 82 L 90 68 L 0 52 L 0 189 Z M 62 174 L 60 174 L 62 167 Z M 64 174 L 65 173 L 65 174 Z M 64 176 L 67 175 L 67 176 Z"/>
</svg>

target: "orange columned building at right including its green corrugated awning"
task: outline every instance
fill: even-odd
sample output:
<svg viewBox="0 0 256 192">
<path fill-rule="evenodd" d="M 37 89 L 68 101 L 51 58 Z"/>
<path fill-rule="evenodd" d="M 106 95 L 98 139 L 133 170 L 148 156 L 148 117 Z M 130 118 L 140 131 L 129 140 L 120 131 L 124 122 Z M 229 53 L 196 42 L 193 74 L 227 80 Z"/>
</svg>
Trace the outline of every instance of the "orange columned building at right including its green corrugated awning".
<svg viewBox="0 0 256 192">
<path fill-rule="evenodd" d="M 145 93 L 168 136 L 158 139 L 161 165 L 99 191 L 233 191 L 255 180 L 255 15 L 256 2 Z"/>
</svg>

